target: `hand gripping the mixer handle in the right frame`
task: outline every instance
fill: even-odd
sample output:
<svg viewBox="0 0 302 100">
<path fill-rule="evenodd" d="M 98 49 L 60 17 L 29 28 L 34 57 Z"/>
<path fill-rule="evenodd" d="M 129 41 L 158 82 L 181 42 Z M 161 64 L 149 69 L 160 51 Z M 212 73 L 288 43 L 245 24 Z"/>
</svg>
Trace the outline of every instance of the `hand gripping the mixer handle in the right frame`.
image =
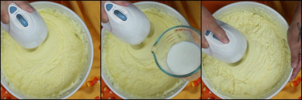
<svg viewBox="0 0 302 100">
<path fill-rule="evenodd" d="M 208 48 L 209 44 L 204 35 L 208 31 L 214 33 L 214 35 L 224 44 L 230 42 L 226 36 L 226 32 L 217 24 L 216 19 L 201 5 L 201 47 Z"/>
</svg>

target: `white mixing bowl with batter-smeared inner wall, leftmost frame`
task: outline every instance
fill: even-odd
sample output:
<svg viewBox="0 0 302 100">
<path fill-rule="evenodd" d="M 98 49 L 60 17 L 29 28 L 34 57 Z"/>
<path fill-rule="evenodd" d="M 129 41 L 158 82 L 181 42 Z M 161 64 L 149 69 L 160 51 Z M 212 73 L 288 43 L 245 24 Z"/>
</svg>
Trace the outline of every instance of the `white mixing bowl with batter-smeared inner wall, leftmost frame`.
<svg viewBox="0 0 302 100">
<path fill-rule="evenodd" d="M 66 93 L 61 95 L 60 97 L 53 98 L 53 99 L 66 99 L 69 96 L 71 96 L 72 94 L 74 94 L 83 85 L 83 83 L 85 82 L 85 80 L 87 79 L 87 77 L 89 75 L 89 72 L 90 72 L 90 69 L 92 66 L 92 61 L 93 61 L 93 44 L 92 44 L 90 32 L 89 32 L 87 26 L 85 25 L 85 23 L 82 21 L 82 19 L 75 12 L 73 12 L 71 9 L 65 7 L 64 5 L 54 3 L 54 2 L 32 2 L 31 5 L 34 7 L 38 7 L 38 8 L 43 8 L 43 7 L 55 8 L 55 9 L 58 9 L 58 11 L 66 13 L 67 15 L 69 15 L 69 17 L 71 17 L 77 23 L 79 23 L 79 25 L 82 27 L 83 31 L 86 33 L 87 42 L 88 42 L 88 63 L 87 63 L 88 67 L 86 67 L 84 69 L 84 73 L 81 75 L 80 80 L 82 80 L 82 81 L 79 82 L 78 84 L 76 84 L 75 87 L 72 87 L 71 89 L 66 91 Z M 1 30 L 2 30 L 2 27 L 1 27 Z M 2 34 L 3 33 L 1 33 L 1 35 Z M 85 59 L 85 58 L 83 58 L 83 59 Z M 16 92 L 16 91 L 10 89 L 8 87 L 8 82 L 4 79 L 3 75 L 1 75 L 1 84 L 3 85 L 3 87 L 5 87 L 5 89 L 8 92 L 10 92 L 15 97 L 17 97 L 19 99 L 27 99 L 24 96 L 22 96 L 19 92 Z M 33 99 L 33 98 L 31 98 L 31 99 Z M 37 98 L 34 98 L 34 99 L 37 99 Z"/>
</svg>

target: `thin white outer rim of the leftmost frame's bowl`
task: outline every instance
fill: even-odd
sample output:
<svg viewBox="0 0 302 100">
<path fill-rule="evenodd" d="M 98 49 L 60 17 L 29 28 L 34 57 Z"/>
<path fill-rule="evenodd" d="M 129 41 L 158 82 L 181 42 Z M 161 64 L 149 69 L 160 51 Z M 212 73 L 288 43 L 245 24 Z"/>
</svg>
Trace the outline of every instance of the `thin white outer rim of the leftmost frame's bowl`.
<svg viewBox="0 0 302 100">
<path fill-rule="evenodd" d="M 88 49 L 90 49 L 90 51 L 88 51 L 88 57 L 91 55 L 90 62 L 87 62 L 87 63 L 89 63 L 88 69 L 87 69 L 87 73 L 85 74 L 85 77 L 83 78 L 82 82 L 72 92 L 70 92 L 68 95 L 64 96 L 63 98 L 60 98 L 60 99 L 66 99 L 66 98 L 70 97 L 71 95 L 73 95 L 76 91 L 78 91 L 80 87 L 82 87 L 82 85 L 86 81 L 86 79 L 87 79 L 87 77 L 88 77 L 88 75 L 89 75 L 89 73 L 91 71 L 92 63 L 93 63 L 93 56 L 94 56 L 93 55 L 94 54 L 94 50 L 93 50 L 92 38 L 91 38 L 90 32 L 89 32 L 86 24 L 83 22 L 83 20 L 78 16 L 78 14 L 76 14 L 74 11 L 72 11 L 68 7 L 66 7 L 64 5 L 61 5 L 61 4 L 58 4 L 56 2 L 48 2 L 48 1 L 37 1 L 37 2 L 31 2 L 30 3 L 30 5 L 38 5 L 38 4 L 54 5 L 54 6 L 58 6 L 58 7 L 66 9 L 67 11 L 69 11 L 70 13 L 72 13 L 74 15 L 74 17 L 76 17 L 76 19 L 79 21 L 78 23 L 79 23 L 80 26 L 83 25 L 81 27 L 82 27 L 83 30 L 85 30 L 86 35 L 87 35 Z M 74 20 L 76 20 L 76 19 L 74 19 Z M 90 52 L 90 54 L 89 54 L 89 52 Z M 87 58 L 87 59 L 89 59 L 89 58 Z M 1 84 L 2 84 L 2 86 L 8 92 L 10 92 L 16 98 L 18 98 L 18 99 L 24 99 L 24 98 L 21 98 L 19 95 L 15 94 L 8 86 L 4 85 L 2 80 L 1 80 Z"/>
</svg>

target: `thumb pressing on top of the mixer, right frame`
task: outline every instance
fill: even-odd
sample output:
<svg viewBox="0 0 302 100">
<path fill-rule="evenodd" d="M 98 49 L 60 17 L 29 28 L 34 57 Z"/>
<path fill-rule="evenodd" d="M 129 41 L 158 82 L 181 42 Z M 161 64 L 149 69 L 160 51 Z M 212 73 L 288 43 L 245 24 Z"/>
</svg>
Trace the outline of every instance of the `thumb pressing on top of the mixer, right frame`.
<svg viewBox="0 0 302 100">
<path fill-rule="evenodd" d="M 213 32 L 213 34 L 224 44 L 230 42 L 229 38 L 226 36 L 226 32 L 217 24 L 217 21 L 211 24 L 209 27 L 209 31 Z"/>
</svg>

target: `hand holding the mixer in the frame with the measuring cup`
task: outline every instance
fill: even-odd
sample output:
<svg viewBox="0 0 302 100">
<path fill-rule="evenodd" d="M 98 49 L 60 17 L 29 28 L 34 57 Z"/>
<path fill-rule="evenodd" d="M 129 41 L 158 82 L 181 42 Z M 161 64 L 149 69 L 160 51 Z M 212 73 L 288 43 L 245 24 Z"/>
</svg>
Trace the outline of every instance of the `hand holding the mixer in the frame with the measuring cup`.
<svg viewBox="0 0 302 100">
<path fill-rule="evenodd" d="M 101 1 L 101 22 L 102 23 L 107 23 L 109 21 L 105 8 L 104 8 L 105 2 L 106 1 Z M 130 2 L 128 2 L 128 1 L 111 1 L 111 2 L 116 3 L 117 5 L 122 5 L 122 6 L 130 5 Z"/>
</svg>

